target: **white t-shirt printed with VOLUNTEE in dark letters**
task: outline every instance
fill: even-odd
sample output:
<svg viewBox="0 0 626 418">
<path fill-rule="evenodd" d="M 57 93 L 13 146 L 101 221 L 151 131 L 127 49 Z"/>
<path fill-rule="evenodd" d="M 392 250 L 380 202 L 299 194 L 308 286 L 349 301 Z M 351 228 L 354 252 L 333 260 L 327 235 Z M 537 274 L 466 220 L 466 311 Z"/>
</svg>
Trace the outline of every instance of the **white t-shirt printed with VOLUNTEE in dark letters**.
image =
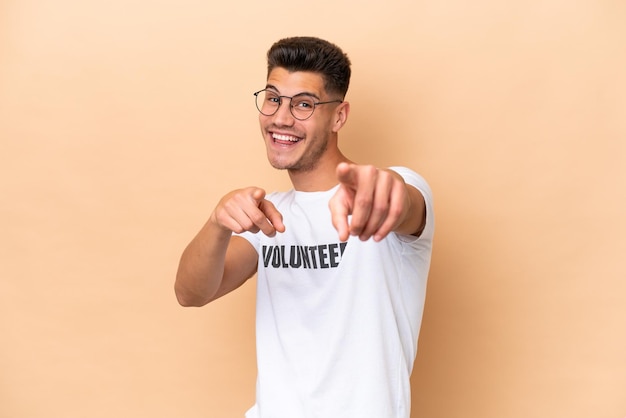
<svg viewBox="0 0 626 418">
<path fill-rule="evenodd" d="M 337 190 L 267 196 L 286 230 L 244 233 L 259 253 L 257 395 L 247 418 L 408 418 L 434 230 L 430 188 L 419 238 L 340 242 L 328 201 Z"/>
</svg>

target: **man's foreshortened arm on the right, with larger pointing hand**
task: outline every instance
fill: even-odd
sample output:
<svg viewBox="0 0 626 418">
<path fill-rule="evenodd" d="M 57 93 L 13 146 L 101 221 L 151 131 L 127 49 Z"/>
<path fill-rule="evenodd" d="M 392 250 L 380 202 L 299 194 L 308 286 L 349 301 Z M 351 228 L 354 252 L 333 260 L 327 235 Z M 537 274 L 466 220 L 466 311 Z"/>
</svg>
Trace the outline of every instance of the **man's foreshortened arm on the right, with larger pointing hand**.
<svg viewBox="0 0 626 418">
<path fill-rule="evenodd" d="M 342 240 L 354 235 L 380 241 L 392 231 L 419 236 L 424 229 L 424 197 L 395 171 L 342 163 L 337 177 L 341 185 L 329 206 Z"/>
</svg>

